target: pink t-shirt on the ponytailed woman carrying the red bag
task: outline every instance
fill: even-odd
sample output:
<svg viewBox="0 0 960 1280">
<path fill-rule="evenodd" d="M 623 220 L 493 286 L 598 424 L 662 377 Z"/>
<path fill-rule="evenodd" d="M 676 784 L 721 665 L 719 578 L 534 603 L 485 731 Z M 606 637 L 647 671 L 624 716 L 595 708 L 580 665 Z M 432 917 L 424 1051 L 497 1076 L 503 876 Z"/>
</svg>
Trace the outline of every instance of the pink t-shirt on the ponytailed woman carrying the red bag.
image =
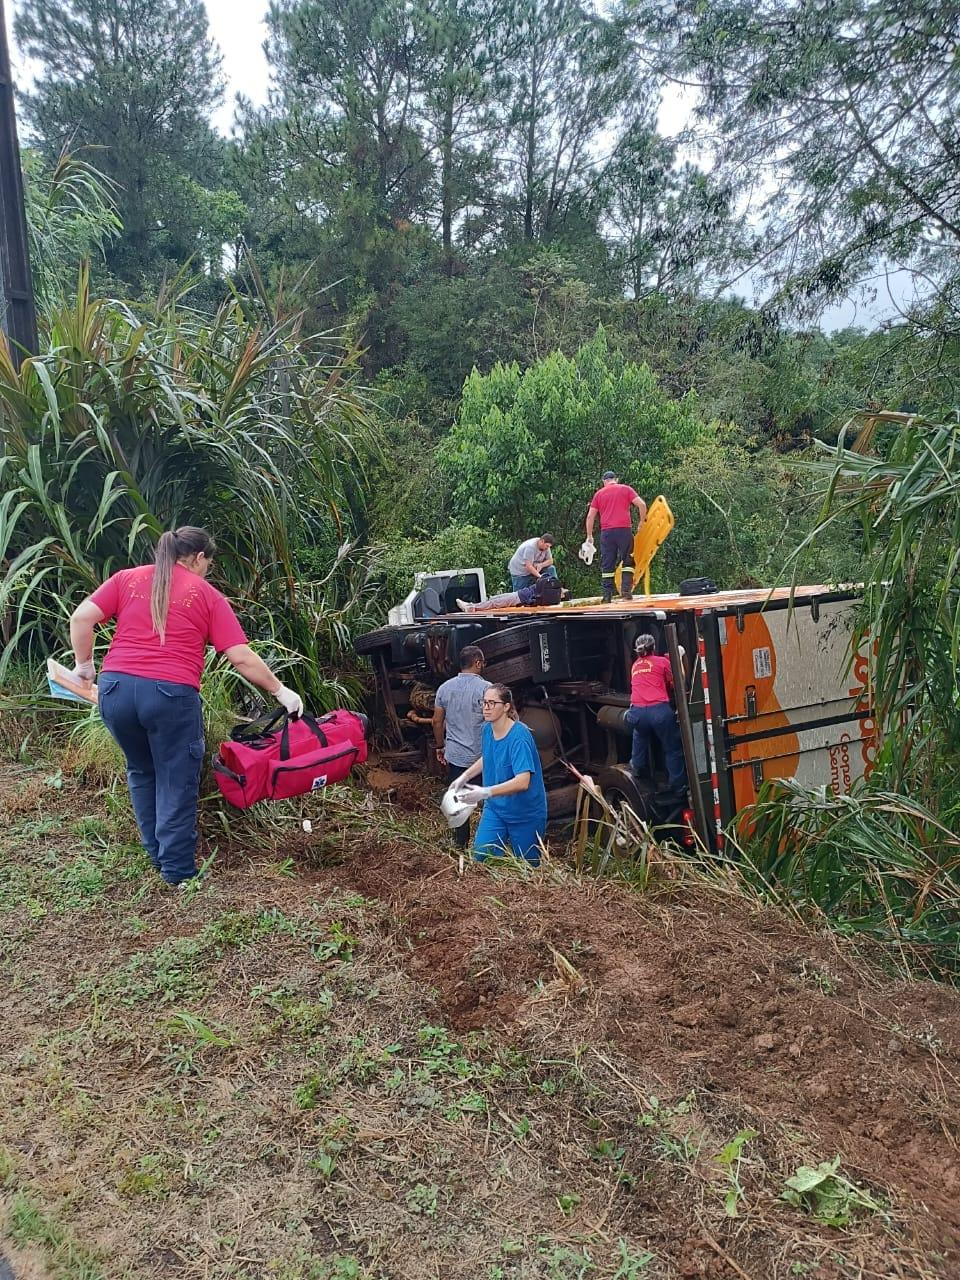
<svg viewBox="0 0 960 1280">
<path fill-rule="evenodd" d="M 116 618 L 102 669 L 200 689 L 206 646 L 211 644 L 223 653 L 234 644 L 246 644 L 243 627 L 215 586 L 174 564 L 166 639 L 160 644 L 150 616 L 152 581 L 152 564 L 123 568 L 91 595 L 108 618 Z"/>
</svg>

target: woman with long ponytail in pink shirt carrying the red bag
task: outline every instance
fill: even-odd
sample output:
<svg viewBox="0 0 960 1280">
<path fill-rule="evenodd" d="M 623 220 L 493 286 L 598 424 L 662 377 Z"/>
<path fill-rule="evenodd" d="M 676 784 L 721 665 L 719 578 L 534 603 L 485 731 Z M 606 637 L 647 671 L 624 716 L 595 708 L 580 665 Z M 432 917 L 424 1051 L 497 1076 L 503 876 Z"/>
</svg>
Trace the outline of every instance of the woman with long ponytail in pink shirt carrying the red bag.
<svg viewBox="0 0 960 1280">
<path fill-rule="evenodd" d="M 204 529 L 163 534 L 154 564 L 114 573 L 70 617 L 73 673 L 83 681 L 96 675 L 93 628 L 116 618 L 100 675 L 100 714 L 127 760 L 143 847 L 168 884 L 197 874 L 206 646 L 291 716 L 303 712 L 300 694 L 257 658 L 229 602 L 205 581 L 215 552 Z"/>
</svg>

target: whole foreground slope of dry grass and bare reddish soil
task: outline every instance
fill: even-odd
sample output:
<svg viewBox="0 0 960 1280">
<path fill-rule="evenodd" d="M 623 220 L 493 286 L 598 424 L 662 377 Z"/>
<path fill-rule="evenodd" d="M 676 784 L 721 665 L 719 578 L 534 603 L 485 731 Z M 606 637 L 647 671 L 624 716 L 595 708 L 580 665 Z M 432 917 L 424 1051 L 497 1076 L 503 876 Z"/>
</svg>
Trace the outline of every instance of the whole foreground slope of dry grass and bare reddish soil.
<svg viewBox="0 0 960 1280">
<path fill-rule="evenodd" d="M 175 897 L 122 791 L 0 774 L 18 1276 L 960 1274 L 952 992 L 675 867 L 460 876 L 431 818 L 310 804 L 212 806 Z"/>
</svg>

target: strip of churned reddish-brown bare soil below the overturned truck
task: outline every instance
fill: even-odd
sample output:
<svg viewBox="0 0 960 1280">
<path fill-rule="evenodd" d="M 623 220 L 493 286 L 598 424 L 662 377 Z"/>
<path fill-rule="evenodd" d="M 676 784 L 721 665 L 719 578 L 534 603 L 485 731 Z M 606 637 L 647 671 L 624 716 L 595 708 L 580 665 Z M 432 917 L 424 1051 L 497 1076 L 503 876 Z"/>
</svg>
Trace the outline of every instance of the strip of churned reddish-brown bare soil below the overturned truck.
<svg viewBox="0 0 960 1280">
<path fill-rule="evenodd" d="M 553 1006 L 547 1021 L 562 1039 L 614 1044 L 669 1096 L 696 1089 L 762 1130 L 803 1134 L 820 1158 L 840 1153 L 914 1206 L 943 1274 L 960 1275 L 954 991 L 890 980 L 832 934 L 703 886 L 658 899 L 475 868 L 460 877 L 396 849 L 339 873 L 389 901 L 454 1028 L 536 1032 L 543 988 L 559 982 L 562 1027 Z"/>
</svg>

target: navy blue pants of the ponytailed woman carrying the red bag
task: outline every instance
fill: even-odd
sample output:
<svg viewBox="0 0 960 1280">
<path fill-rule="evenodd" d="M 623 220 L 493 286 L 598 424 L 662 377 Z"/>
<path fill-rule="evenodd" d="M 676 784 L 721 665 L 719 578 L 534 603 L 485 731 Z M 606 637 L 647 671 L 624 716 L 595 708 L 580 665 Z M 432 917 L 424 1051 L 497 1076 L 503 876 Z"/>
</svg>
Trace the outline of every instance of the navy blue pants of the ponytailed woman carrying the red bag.
<svg viewBox="0 0 960 1280">
<path fill-rule="evenodd" d="M 101 675 L 100 714 L 127 760 L 127 786 L 150 861 L 168 884 L 197 874 L 204 716 L 192 685 Z"/>
</svg>

